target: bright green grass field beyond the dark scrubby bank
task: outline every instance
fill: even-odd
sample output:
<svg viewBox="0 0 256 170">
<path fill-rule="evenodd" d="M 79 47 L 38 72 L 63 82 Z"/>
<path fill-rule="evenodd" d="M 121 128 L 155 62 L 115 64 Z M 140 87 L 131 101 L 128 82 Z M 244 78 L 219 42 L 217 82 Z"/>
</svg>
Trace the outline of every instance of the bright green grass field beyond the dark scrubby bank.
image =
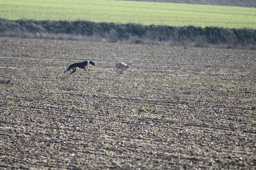
<svg viewBox="0 0 256 170">
<path fill-rule="evenodd" d="M 108 0 L 1 0 L 0 18 L 256 29 L 256 8 Z"/>
</svg>

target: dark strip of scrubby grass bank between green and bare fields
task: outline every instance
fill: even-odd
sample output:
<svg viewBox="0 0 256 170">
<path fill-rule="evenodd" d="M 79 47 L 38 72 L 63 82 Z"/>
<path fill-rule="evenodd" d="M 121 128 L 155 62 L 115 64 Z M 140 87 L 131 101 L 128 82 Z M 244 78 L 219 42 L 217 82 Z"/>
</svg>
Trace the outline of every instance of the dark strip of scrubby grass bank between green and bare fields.
<svg viewBox="0 0 256 170">
<path fill-rule="evenodd" d="M 0 36 L 255 49 L 256 30 L 218 27 L 0 20 Z"/>
</svg>

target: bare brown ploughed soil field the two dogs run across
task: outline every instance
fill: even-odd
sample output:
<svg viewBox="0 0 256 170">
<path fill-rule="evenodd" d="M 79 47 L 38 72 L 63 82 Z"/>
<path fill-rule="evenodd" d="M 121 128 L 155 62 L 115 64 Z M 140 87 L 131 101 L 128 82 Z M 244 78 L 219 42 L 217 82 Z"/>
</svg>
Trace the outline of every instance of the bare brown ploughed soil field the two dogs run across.
<svg viewBox="0 0 256 170">
<path fill-rule="evenodd" d="M 255 168 L 255 50 L 0 44 L 0 169 Z"/>
</svg>

